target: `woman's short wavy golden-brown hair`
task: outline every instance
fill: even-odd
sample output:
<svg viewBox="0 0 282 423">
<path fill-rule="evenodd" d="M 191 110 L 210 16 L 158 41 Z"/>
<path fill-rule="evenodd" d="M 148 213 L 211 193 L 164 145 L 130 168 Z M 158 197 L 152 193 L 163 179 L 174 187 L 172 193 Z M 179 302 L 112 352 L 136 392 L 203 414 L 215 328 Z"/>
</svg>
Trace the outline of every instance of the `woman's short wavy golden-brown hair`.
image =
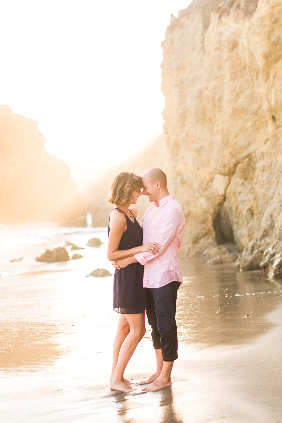
<svg viewBox="0 0 282 423">
<path fill-rule="evenodd" d="M 140 191 L 141 188 L 141 176 L 134 172 L 121 172 L 112 183 L 107 201 L 115 206 L 127 206 L 130 203 L 132 192 Z"/>
</svg>

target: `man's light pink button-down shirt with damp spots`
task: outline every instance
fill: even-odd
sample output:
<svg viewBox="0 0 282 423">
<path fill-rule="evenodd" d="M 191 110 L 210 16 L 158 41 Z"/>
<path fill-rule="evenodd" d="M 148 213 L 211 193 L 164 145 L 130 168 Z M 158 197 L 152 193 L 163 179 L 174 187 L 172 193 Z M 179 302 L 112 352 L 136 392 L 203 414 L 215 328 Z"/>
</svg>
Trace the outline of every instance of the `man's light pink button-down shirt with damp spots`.
<svg viewBox="0 0 282 423">
<path fill-rule="evenodd" d="M 183 242 L 183 211 L 174 200 L 174 195 L 167 195 L 158 204 L 155 202 L 143 216 L 143 244 L 158 242 L 160 252 L 135 254 L 139 263 L 144 265 L 144 288 L 160 288 L 176 280 L 182 285 L 182 270 L 178 257 Z"/>
</svg>

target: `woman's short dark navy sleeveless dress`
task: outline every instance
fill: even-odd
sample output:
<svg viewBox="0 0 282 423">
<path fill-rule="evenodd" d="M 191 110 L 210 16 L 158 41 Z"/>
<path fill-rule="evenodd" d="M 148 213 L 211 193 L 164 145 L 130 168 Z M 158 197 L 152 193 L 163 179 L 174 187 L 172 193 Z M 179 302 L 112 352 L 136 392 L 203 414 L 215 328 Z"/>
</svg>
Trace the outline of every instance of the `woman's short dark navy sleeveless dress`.
<svg viewBox="0 0 282 423">
<path fill-rule="evenodd" d="M 129 250 L 130 248 L 139 247 L 143 243 L 141 226 L 135 218 L 134 222 L 132 222 L 126 214 L 125 216 L 127 229 L 123 232 L 123 236 L 120 239 L 119 250 Z M 109 233 L 110 222 L 108 226 Z M 114 310 L 118 313 L 144 313 L 147 307 L 147 296 L 146 289 L 143 288 L 143 271 L 144 268 L 140 263 L 131 263 L 120 270 L 115 269 Z"/>
</svg>

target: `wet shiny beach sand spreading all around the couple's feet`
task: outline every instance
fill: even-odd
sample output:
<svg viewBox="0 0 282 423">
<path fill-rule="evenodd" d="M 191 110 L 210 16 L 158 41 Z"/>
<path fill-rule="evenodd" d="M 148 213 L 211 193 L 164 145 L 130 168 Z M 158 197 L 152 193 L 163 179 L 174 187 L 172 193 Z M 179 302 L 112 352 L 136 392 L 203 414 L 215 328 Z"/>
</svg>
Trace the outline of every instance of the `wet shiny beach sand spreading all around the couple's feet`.
<svg viewBox="0 0 282 423">
<path fill-rule="evenodd" d="M 65 240 L 85 246 L 90 237 Z M 182 260 L 172 386 L 142 395 L 138 385 L 129 394 L 111 391 L 112 277 L 85 278 L 96 267 L 111 270 L 106 247 L 81 250 L 83 262 L 31 265 L 27 257 L 20 275 L 4 269 L 1 422 L 282 421 L 281 281 L 237 273 L 234 264 Z M 137 382 L 154 368 L 147 326 L 126 376 Z"/>
</svg>

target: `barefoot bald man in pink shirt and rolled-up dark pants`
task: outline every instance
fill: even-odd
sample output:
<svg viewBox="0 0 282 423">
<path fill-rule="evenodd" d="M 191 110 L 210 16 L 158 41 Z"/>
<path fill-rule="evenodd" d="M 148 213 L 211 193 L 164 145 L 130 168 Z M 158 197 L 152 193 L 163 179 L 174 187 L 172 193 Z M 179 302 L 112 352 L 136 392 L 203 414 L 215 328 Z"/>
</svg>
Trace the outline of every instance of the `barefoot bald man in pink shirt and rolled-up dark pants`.
<svg viewBox="0 0 282 423">
<path fill-rule="evenodd" d="M 171 371 L 178 358 L 175 308 L 177 291 L 183 283 L 178 250 L 183 240 L 183 211 L 167 190 L 167 177 L 159 168 L 152 168 L 142 175 L 143 195 L 154 205 L 144 214 L 143 244 L 151 241 L 160 244 L 160 252 L 138 253 L 132 257 L 114 261 L 120 269 L 139 261 L 144 265 L 143 287 L 147 288 L 149 309 L 148 323 L 152 327 L 153 347 L 156 352 L 157 370 L 140 385 L 150 384 L 142 390 L 158 391 L 171 385 Z"/>
</svg>

